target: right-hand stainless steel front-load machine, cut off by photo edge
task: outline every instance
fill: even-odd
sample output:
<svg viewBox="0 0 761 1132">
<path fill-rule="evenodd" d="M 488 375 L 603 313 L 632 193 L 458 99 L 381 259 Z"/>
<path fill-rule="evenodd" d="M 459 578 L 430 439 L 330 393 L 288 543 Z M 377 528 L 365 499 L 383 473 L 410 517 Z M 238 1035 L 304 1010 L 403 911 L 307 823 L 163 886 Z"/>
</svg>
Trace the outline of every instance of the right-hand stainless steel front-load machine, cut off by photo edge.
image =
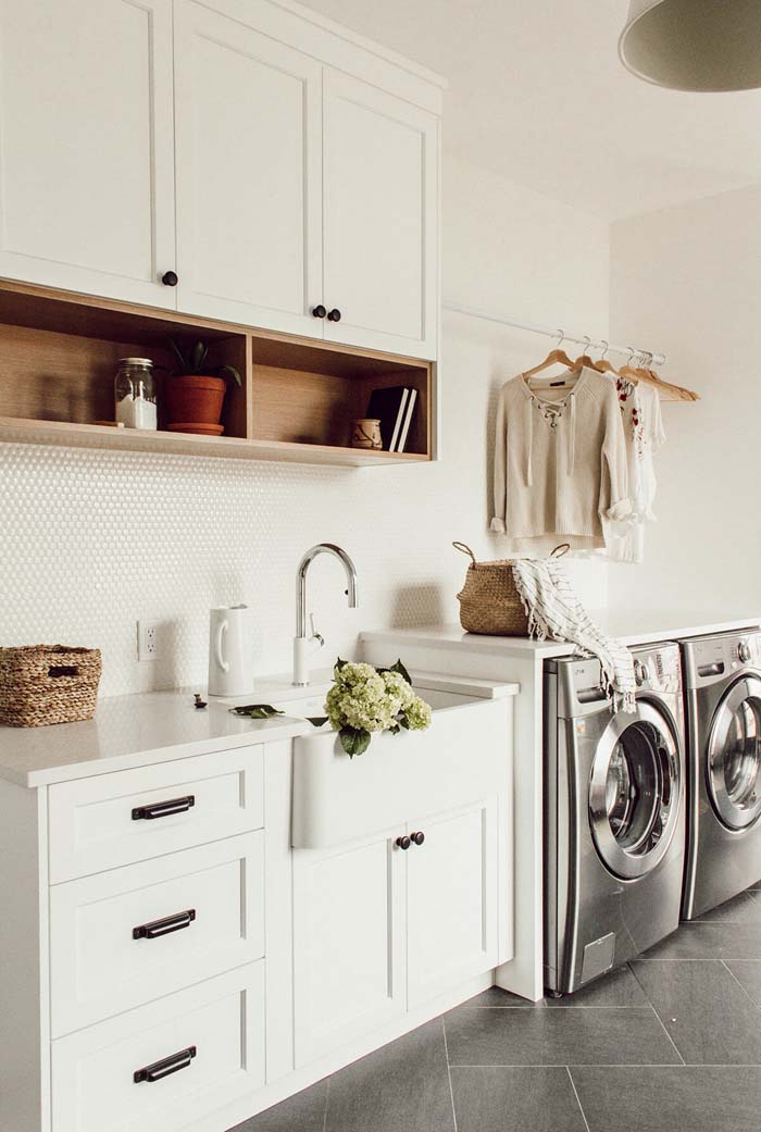
<svg viewBox="0 0 761 1132">
<path fill-rule="evenodd" d="M 761 633 L 682 642 L 687 855 L 682 915 L 694 919 L 761 877 Z"/>
</svg>

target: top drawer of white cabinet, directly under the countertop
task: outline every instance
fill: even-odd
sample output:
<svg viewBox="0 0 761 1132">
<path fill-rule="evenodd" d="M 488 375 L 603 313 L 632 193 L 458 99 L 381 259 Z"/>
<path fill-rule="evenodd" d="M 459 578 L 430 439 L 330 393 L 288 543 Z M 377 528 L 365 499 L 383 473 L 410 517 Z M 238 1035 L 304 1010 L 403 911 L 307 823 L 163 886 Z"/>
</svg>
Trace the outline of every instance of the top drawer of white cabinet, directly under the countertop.
<svg viewBox="0 0 761 1132">
<path fill-rule="evenodd" d="M 260 829 L 263 766 L 242 747 L 52 786 L 51 884 Z"/>
</svg>

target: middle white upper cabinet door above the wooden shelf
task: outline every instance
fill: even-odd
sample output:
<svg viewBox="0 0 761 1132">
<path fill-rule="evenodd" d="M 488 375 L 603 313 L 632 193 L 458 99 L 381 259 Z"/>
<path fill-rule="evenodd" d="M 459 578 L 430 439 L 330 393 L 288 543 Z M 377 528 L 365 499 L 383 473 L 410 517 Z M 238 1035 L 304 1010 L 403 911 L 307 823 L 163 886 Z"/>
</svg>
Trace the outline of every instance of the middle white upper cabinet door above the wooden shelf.
<svg viewBox="0 0 761 1132">
<path fill-rule="evenodd" d="M 322 337 L 322 66 L 193 0 L 176 52 L 179 309 Z"/>
</svg>

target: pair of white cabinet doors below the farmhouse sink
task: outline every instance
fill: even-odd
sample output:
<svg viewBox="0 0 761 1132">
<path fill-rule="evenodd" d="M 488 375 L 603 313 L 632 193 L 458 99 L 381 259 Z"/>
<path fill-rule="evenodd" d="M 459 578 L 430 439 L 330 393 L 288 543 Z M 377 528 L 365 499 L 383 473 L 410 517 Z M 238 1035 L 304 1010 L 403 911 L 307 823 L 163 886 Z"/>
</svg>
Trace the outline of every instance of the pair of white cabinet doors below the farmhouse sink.
<svg viewBox="0 0 761 1132">
<path fill-rule="evenodd" d="M 498 803 L 294 850 L 297 1066 L 495 967 Z"/>
</svg>

